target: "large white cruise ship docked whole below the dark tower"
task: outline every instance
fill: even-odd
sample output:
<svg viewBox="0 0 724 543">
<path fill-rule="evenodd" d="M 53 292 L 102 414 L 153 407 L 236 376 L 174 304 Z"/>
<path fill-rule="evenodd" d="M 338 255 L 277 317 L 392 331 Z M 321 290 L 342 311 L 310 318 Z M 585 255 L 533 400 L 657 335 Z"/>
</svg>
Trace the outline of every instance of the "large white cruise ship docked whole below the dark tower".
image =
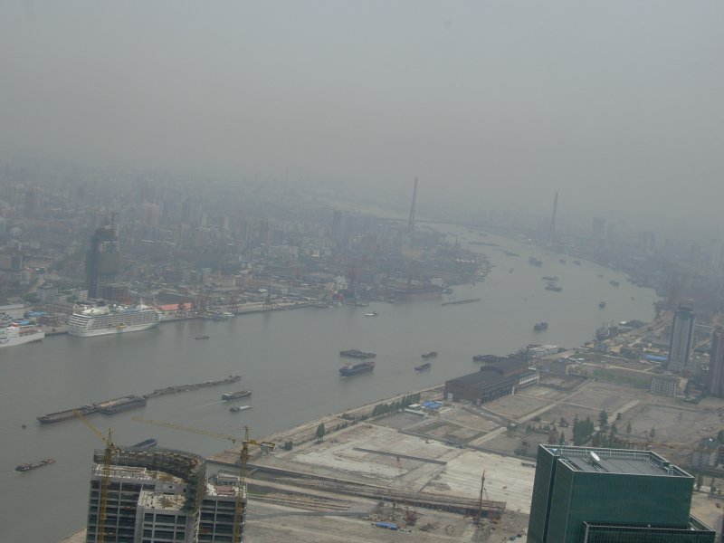
<svg viewBox="0 0 724 543">
<path fill-rule="evenodd" d="M 101 306 L 73 313 L 68 319 L 68 333 L 79 338 L 122 334 L 149 329 L 158 324 L 162 314 L 153 308 L 138 306 Z"/>
</svg>

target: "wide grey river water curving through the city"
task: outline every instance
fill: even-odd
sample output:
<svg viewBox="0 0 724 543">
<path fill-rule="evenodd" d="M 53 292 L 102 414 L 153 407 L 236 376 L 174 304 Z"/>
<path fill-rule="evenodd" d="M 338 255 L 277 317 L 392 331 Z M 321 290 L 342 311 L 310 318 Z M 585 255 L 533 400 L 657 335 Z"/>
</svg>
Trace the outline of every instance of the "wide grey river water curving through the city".
<svg viewBox="0 0 724 543">
<path fill-rule="evenodd" d="M 558 262 L 559 255 L 505 238 L 458 230 L 461 242 L 500 243 L 517 252 L 489 255 L 486 281 L 454 287 L 457 300 L 480 302 L 441 306 L 441 300 L 369 308 L 305 309 L 244 315 L 227 321 L 186 320 L 157 329 L 104 338 L 59 336 L 0 350 L 0 534 L 3 541 L 53 542 L 85 525 L 92 452 L 102 443 L 80 421 L 41 426 L 40 414 L 155 388 L 243 376 L 241 383 L 148 400 L 141 409 L 90 421 L 116 443 L 154 436 L 161 446 L 201 454 L 224 449 L 224 441 L 195 433 L 141 424 L 141 416 L 195 428 L 253 437 L 344 411 L 391 395 L 414 391 L 476 371 L 475 354 L 507 354 L 529 343 L 576 347 L 592 338 L 605 320 L 653 319 L 655 293 L 639 289 L 618 272 L 591 262 Z M 528 263 L 535 255 L 542 268 Z M 513 271 L 510 271 L 510 269 Z M 559 277 L 561 292 L 545 291 L 541 275 Z M 602 275 L 603 277 L 600 277 Z M 620 281 L 614 288 L 610 280 Z M 443 301 L 448 300 L 447 296 Z M 603 310 L 598 302 L 606 301 Z M 376 311 L 377 317 L 364 313 Z M 533 324 L 548 321 L 548 331 Z M 208 335 L 205 341 L 196 336 Z M 338 352 L 360 348 L 377 353 L 373 374 L 338 376 Z M 420 355 L 436 350 L 429 371 L 417 373 Z M 230 413 L 221 401 L 229 390 L 252 388 Z M 22 424 L 27 424 L 22 429 Z M 33 472 L 14 472 L 21 462 L 52 457 L 57 462 Z"/>
</svg>

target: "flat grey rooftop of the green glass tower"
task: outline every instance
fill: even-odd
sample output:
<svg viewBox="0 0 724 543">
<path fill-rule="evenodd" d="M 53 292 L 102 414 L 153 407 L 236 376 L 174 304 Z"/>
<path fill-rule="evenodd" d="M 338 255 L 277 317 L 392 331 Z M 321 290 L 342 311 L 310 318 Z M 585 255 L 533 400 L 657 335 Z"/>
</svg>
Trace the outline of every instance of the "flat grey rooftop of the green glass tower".
<svg viewBox="0 0 724 543">
<path fill-rule="evenodd" d="M 541 445 L 556 456 L 572 472 L 622 473 L 658 477 L 689 477 L 653 451 L 628 449 L 595 449 L 592 447 L 556 447 Z"/>
</svg>

